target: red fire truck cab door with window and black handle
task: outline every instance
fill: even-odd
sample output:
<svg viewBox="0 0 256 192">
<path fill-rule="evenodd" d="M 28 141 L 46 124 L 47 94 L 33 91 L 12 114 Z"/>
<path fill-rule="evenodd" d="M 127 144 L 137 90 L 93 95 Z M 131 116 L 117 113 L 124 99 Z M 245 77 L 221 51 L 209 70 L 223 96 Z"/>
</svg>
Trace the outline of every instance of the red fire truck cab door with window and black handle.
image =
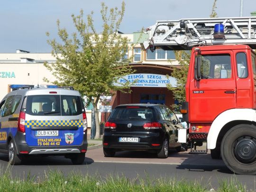
<svg viewBox="0 0 256 192">
<path fill-rule="evenodd" d="M 201 61 L 201 78 L 196 80 L 191 77 L 190 81 L 191 122 L 212 122 L 221 112 L 236 107 L 232 52 L 208 52 L 202 51 L 197 56 Z"/>
</svg>

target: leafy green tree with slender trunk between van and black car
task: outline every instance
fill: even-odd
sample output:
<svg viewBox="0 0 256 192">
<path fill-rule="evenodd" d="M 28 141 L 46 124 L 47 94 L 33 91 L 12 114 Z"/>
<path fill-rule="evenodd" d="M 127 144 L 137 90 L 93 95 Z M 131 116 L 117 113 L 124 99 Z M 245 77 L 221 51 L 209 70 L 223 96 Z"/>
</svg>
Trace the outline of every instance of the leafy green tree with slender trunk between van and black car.
<svg viewBox="0 0 256 192">
<path fill-rule="evenodd" d="M 122 87 L 114 86 L 114 83 L 119 77 L 133 73 L 128 65 L 129 59 L 124 59 L 129 48 L 129 40 L 118 33 L 124 12 L 124 2 L 120 10 L 108 9 L 101 3 L 103 25 L 99 34 L 93 25 L 93 12 L 87 16 L 85 22 L 81 10 L 80 15 L 72 15 L 75 33 L 69 35 L 65 28 L 60 27 L 60 21 L 57 20 L 61 42 L 57 42 L 56 39 L 47 41 L 52 47 L 56 63 L 45 63 L 45 66 L 56 77 L 55 83 L 73 86 L 92 103 L 96 118 L 96 139 L 100 136 L 97 109 L 100 96 L 112 95 L 112 92 L 117 90 L 127 90 L 128 83 L 124 83 Z M 49 36 L 49 33 L 46 35 Z"/>
</svg>

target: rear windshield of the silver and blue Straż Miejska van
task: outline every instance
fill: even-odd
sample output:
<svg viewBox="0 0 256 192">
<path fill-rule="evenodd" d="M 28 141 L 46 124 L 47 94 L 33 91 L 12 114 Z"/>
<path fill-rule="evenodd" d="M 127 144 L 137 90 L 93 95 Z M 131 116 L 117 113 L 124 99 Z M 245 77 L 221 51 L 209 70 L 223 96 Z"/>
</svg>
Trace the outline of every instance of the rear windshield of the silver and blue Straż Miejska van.
<svg viewBox="0 0 256 192">
<path fill-rule="evenodd" d="M 76 116 L 82 114 L 81 98 L 73 95 L 31 95 L 26 113 L 33 116 Z"/>
</svg>

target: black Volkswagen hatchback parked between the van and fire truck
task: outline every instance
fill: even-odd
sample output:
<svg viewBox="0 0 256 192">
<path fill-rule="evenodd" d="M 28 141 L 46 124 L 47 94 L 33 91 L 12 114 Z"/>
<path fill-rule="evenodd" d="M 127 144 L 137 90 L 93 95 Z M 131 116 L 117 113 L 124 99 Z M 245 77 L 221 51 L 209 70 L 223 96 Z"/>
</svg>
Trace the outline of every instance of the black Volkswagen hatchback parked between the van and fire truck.
<svg viewBox="0 0 256 192">
<path fill-rule="evenodd" d="M 178 128 L 183 127 L 165 105 L 119 105 L 105 123 L 104 155 L 113 157 L 120 150 L 151 150 L 158 158 L 167 158 L 170 148 L 182 149 L 177 142 Z"/>
</svg>

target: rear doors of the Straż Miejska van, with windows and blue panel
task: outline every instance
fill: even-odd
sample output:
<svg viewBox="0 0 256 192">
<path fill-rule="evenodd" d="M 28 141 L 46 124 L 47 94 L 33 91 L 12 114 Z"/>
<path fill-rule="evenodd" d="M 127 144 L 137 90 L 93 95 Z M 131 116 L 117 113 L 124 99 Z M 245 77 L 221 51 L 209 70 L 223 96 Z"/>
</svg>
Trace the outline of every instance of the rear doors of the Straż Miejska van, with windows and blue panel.
<svg viewBox="0 0 256 192">
<path fill-rule="evenodd" d="M 82 144 L 81 97 L 56 93 L 27 96 L 25 132 L 29 146 Z"/>
</svg>

